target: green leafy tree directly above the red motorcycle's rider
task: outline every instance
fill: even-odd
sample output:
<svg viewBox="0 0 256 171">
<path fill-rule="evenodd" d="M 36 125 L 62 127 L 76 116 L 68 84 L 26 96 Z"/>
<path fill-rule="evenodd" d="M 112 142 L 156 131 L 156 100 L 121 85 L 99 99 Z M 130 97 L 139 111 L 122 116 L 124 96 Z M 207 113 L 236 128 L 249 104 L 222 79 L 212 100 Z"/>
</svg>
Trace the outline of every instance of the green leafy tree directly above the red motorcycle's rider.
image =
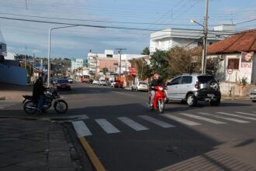
<svg viewBox="0 0 256 171">
<path fill-rule="evenodd" d="M 157 50 L 150 58 L 151 72 L 161 74 L 163 80 L 167 80 L 171 74 L 167 57 L 168 51 Z"/>
</svg>

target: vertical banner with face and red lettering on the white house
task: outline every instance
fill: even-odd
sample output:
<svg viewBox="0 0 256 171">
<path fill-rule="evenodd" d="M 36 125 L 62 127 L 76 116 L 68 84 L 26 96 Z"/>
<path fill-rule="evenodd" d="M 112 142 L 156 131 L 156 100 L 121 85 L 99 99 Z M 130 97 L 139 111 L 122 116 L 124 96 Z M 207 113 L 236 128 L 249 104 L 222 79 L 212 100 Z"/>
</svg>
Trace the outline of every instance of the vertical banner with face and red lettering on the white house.
<svg viewBox="0 0 256 171">
<path fill-rule="evenodd" d="M 254 52 L 241 52 L 240 80 L 244 78 L 247 83 L 251 83 L 253 56 Z"/>
</svg>

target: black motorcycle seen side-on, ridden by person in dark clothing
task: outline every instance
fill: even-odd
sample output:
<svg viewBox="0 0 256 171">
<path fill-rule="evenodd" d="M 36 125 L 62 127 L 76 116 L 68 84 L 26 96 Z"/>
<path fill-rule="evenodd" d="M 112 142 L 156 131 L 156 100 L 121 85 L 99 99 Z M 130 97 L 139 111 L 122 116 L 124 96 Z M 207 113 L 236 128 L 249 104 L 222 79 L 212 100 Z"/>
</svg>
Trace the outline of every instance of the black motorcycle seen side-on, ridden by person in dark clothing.
<svg viewBox="0 0 256 171">
<path fill-rule="evenodd" d="M 23 95 L 25 98 L 23 103 L 23 110 L 29 114 L 33 115 L 36 111 L 39 111 L 37 106 L 37 100 L 30 95 Z M 60 95 L 57 91 L 47 90 L 43 95 L 43 111 L 47 111 L 54 101 L 54 110 L 59 114 L 64 114 L 67 111 L 67 102 L 60 99 Z"/>
</svg>

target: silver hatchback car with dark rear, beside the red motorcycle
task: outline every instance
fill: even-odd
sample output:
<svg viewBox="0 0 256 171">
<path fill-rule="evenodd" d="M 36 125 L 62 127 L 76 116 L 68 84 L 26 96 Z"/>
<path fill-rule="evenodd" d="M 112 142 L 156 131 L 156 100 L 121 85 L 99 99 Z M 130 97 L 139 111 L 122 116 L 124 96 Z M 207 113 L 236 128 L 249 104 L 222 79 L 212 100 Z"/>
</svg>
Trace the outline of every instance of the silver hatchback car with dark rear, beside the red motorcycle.
<svg viewBox="0 0 256 171">
<path fill-rule="evenodd" d="M 209 101 L 213 106 L 220 105 L 220 86 L 209 74 L 183 74 L 168 82 L 165 90 L 166 102 L 182 101 L 195 106 L 197 101 Z"/>
</svg>

